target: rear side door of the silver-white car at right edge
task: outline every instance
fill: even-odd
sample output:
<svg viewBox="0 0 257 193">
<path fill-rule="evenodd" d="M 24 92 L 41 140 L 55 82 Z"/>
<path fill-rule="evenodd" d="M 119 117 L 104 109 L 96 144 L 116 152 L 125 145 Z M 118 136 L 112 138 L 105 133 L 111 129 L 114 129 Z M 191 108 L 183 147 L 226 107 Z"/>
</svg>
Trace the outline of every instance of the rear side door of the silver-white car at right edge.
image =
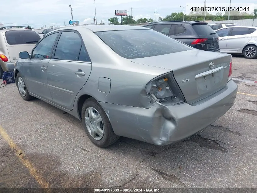
<svg viewBox="0 0 257 193">
<path fill-rule="evenodd" d="M 248 27 L 233 27 L 227 38 L 226 51 L 237 52 L 252 39 Z"/>
</svg>

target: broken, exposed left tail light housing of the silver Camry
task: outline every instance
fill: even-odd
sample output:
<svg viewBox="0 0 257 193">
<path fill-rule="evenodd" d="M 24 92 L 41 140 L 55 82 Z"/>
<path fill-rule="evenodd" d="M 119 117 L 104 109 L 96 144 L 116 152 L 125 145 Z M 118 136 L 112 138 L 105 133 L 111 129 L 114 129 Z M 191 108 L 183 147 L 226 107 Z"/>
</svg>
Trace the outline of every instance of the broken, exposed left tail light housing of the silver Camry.
<svg viewBox="0 0 257 193">
<path fill-rule="evenodd" d="M 148 94 L 149 102 L 151 102 L 151 98 L 165 105 L 175 105 L 186 102 L 179 85 L 175 81 L 173 72 L 154 78 L 146 84 L 145 89 Z"/>
</svg>

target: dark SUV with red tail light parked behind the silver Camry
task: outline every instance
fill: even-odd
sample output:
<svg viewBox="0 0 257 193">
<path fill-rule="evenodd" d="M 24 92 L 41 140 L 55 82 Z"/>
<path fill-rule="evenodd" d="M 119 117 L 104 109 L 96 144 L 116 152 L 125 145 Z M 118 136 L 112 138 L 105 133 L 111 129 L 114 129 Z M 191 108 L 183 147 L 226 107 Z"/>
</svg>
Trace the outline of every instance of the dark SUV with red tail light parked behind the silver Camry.
<svg viewBox="0 0 257 193">
<path fill-rule="evenodd" d="M 143 26 L 200 50 L 220 52 L 219 36 L 208 26 L 200 21 L 161 21 L 148 23 Z"/>
</svg>

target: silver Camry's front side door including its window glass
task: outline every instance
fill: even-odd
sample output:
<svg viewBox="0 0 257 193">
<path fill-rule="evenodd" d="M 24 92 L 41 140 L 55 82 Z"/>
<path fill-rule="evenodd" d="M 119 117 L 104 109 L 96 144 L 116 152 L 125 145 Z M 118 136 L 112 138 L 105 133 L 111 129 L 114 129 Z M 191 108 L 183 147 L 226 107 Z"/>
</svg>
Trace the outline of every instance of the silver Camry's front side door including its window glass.
<svg viewBox="0 0 257 193">
<path fill-rule="evenodd" d="M 29 91 L 41 98 L 52 101 L 47 84 L 47 67 L 58 32 L 44 37 L 31 52 L 31 58 L 23 64 L 23 73 Z"/>
</svg>

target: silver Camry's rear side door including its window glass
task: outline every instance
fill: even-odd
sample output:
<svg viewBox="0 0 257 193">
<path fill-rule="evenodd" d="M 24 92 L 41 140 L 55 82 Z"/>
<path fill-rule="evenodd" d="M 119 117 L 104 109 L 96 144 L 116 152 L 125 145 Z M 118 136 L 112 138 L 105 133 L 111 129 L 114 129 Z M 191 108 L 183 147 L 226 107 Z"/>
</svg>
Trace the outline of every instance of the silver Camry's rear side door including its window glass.
<svg viewBox="0 0 257 193">
<path fill-rule="evenodd" d="M 72 110 L 76 95 L 89 78 L 91 66 L 80 34 L 75 30 L 63 30 L 47 68 L 53 102 Z"/>
</svg>

